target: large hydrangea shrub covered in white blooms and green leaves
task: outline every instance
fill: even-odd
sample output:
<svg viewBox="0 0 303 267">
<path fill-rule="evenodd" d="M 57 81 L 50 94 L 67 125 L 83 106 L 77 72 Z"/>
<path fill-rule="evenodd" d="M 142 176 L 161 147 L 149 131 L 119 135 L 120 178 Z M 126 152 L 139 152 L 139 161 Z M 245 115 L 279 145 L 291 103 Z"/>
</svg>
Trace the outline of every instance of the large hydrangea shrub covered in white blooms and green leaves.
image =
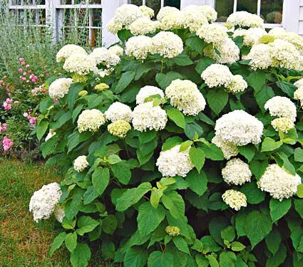
<svg viewBox="0 0 303 267">
<path fill-rule="evenodd" d="M 108 24 L 118 46 L 58 52 L 36 132 L 64 179 L 31 199 L 36 221 L 61 221 L 50 253 L 302 266 L 302 38 L 246 12 L 212 23 L 209 6 L 152 16 L 123 5 Z"/>
</svg>

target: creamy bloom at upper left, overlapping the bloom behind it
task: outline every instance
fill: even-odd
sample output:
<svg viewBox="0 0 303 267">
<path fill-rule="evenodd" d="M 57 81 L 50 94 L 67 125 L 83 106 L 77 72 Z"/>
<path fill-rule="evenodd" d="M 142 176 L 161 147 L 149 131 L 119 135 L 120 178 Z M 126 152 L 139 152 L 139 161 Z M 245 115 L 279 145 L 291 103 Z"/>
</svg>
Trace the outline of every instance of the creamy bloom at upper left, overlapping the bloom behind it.
<svg viewBox="0 0 303 267">
<path fill-rule="evenodd" d="M 69 56 L 63 65 L 63 69 L 69 73 L 78 73 L 79 75 L 86 75 L 90 72 L 97 73 L 98 71 L 96 61 L 91 56 L 83 53 L 73 53 Z"/>
</svg>

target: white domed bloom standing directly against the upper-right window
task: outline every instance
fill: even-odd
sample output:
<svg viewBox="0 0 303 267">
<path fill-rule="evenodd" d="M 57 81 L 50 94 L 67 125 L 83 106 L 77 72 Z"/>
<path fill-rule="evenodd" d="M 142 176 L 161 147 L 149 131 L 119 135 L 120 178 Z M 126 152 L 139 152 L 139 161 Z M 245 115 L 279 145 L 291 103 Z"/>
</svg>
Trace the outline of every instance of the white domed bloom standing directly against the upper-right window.
<svg viewBox="0 0 303 267">
<path fill-rule="evenodd" d="M 264 28 L 264 21 L 260 16 L 250 14 L 247 11 L 237 11 L 230 14 L 227 23 L 232 23 L 240 28 Z"/>
</svg>

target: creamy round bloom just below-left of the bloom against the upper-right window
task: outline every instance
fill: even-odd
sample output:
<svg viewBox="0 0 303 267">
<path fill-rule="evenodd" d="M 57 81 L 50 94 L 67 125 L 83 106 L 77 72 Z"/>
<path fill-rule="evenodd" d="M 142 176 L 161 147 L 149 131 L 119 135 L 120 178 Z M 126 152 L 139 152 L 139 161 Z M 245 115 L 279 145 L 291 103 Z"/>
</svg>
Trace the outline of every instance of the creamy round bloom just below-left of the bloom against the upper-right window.
<svg viewBox="0 0 303 267">
<path fill-rule="evenodd" d="M 206 43 L 213 43 L 215 46 L 222 45 L 228 38 L 227 28 L 220 24 L 204 24 L 197 30 L 199 36 Z"/>
</svg>

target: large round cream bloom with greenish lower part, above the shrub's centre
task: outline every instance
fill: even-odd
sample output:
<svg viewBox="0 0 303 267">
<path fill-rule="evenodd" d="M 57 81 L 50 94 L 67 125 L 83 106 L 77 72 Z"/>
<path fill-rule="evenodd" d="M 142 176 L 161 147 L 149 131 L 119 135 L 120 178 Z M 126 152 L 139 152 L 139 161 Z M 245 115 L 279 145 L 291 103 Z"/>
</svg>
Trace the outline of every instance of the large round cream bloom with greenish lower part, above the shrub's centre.
<svg viewBox="0 0 303 267">
<path fill-rule="evenodd" d="M 173 80 L 165 89 L 165 94 L 170 98 L 170 104 L 184 115 L 197 115 L 205 109 L 205 98 L 190 80 Z"/>
</svg>

